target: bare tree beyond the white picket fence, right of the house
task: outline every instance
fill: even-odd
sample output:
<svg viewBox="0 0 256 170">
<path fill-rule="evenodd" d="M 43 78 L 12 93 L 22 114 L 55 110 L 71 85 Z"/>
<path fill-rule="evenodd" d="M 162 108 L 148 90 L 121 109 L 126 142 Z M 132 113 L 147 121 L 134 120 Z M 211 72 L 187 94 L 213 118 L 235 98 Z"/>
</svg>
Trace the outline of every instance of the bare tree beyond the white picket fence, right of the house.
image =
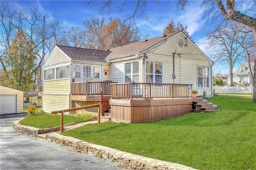
<svg viewBox="0 0 256 170">
<path fill-rule="evenodd" d="M 208 49 L 214 51 L 211 57 L 215 63 L 228 63 L 229 65 L 230 86 L 234 85 L 233 68 L 235 63 L 241 63 L 244 60 L 247 46 L 243 48 L 241 45 L 251 43 L 247 42 L 248 39 L 246 39 L 250 31 L 246 32 L 242 27 L 244 26 L 239 23 L 228 22 L 208 34 L 208 40 L 210 40 Z"/>
</svg>

